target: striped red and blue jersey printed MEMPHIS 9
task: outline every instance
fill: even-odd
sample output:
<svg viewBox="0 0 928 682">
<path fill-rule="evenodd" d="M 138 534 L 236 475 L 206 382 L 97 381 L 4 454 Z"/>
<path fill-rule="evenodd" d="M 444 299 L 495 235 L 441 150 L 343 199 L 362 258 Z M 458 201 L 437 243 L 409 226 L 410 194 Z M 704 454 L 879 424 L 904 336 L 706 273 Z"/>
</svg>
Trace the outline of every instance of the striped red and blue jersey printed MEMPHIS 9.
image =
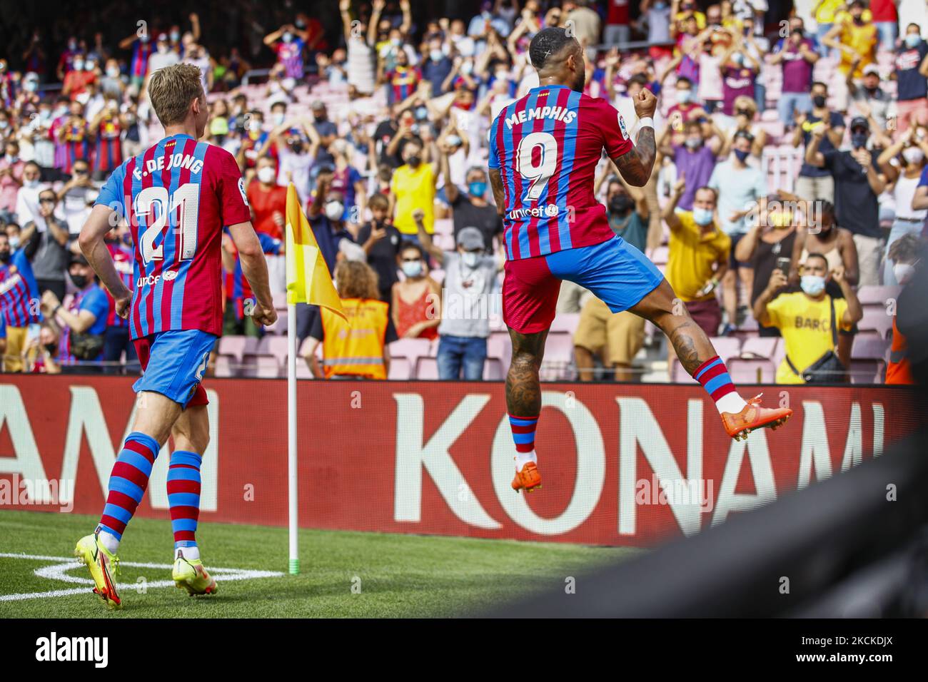
<svg viewBox="0 0 928 682">
<path fill-rule="evenodd" d="M 631 148 L 622 115 L 605 99 L 565 85 L 535 87 L 499 112 L 489 131 L 489 167 L 505 194 L 507 258 L 520 260 L 599 244 L 615 233 L 593 196 L 605 148 Z"/>
</svg>

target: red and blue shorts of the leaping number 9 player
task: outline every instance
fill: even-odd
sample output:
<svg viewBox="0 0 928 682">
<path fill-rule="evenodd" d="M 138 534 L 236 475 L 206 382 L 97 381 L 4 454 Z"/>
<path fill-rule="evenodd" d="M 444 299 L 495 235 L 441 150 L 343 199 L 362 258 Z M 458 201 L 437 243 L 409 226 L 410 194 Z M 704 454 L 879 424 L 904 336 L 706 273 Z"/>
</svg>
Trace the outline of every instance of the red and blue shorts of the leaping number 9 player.
<svg viewBox="0 0 928 682">
<path fill-rule="evenodd" d="M 561 279 L 593 292 L 613 313 L 636 305 L 664 276 L 651 261 L 621 237 L 566 249 L 546 256 L 506 262 L 503 320 L 522 334 L 551 326 Z"/>
</svg>

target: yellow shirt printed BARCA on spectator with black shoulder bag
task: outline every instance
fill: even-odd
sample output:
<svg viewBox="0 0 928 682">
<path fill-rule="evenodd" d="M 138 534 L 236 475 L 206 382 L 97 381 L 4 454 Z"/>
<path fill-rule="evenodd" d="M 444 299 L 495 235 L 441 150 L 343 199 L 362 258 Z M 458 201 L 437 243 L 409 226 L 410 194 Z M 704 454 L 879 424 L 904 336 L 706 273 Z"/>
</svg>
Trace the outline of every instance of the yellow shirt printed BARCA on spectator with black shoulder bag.
<svg viewBox="0 0 928 682">
<path fill-rule="evenodd" d="M 786 345 L 786 354 L 793 365 L 802 372 L 819 357 L 835 351 L 831 343 L 831 296 L 827 294 L 820 300 L 806 296 L 802 291 L 781 293 L 767 303 L 767 315 L 770 317 L 767 327 L 780 329 Z M 849 329 L 844 325 L 844 311 L 847 301 L 834 300 L 834 324 L 840 331 Z M 835 351 L 836 352 L 836 351 Z M 777 383 L 805 383 L 796 375 L 784 358 L 777 367 Z"/>
</svg>

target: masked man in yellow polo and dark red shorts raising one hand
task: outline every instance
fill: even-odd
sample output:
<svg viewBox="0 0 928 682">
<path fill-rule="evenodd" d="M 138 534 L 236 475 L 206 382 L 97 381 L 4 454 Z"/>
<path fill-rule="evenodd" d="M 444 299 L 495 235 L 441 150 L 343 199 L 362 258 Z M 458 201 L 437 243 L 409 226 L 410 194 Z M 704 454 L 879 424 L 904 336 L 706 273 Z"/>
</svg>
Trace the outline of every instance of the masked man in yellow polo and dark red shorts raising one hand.
<svg viewBox="0 0 928 682">
<path fill-rule="evenodd" d="M 712 187 L 696 190 L 692 211 L 677 209 L 688 183 L 681 176 L 664 207 L 664 221 L 670 227 L 665 275 L 693 321 L 707 336 L 715 336 L 722 322 L 715 289 L 728 270 L 731 238 L 715 219 L 718 199 Z"/>
</svg>

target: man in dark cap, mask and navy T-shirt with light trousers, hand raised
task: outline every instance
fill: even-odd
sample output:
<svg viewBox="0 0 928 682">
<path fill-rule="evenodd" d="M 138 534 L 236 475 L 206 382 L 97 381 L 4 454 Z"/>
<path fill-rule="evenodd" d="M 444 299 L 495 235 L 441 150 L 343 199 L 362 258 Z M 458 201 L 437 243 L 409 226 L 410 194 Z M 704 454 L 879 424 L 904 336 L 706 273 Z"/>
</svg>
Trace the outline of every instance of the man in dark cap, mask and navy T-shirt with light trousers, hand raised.
<svg viewBox="0 0 928 682">
<path fill-rule="evenodd" d="M 884 237 L 880 227 L 879 196 L 886 188 L 886 178 L 867 150 L 870 123 L 857 117 L 851 121 L 849 151 L 818 150 L 823 129 L 813 131 L 806 148 L 806 163 L 826 169 L 834 178 L 834 205 L 838 224 L 854 235 L 860 264 L 860 286 L 880 283 Z"/>
</svg>

